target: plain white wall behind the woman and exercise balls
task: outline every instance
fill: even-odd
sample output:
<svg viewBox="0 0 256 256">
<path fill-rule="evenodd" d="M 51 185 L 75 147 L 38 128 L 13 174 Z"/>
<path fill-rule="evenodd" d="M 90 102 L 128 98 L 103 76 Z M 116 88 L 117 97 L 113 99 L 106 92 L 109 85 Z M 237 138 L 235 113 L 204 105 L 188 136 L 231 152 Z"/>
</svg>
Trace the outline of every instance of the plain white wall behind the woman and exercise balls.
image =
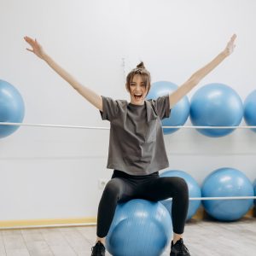
<svg viewBox="0 0 256 256">
<path fill-rule="evenodd" d="M 236 32 L 235 53 L 198 88 L 229 84 L 244 100 L 256 85 L 255 12 L 253 0 L 0 0 L 0 79 L 20 90 L 26 123 L 108 126 L 44 61 L 26 52 L 23 36 L 38 38 L 97 93 L 128 99 L 125 73 L 138 61 L 153 81 L 182 84 Z M 256 177 L 252 131 L 210 138 L 180 130 L 165 138 L 170 169 L 189 172 L 199 183 L 224 166 Z M 98 179 L 111 176 L 107 157 L 108 131 L 21 127 L 0 141 L 0 220 L 96 216 Z"/>
</svg>

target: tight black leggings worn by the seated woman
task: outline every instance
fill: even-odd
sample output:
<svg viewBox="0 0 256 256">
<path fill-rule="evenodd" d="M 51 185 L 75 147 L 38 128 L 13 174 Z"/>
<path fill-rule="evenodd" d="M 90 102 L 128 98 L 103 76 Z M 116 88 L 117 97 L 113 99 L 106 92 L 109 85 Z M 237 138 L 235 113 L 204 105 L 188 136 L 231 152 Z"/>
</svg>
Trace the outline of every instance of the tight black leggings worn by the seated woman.
<svg viewBox="0 0 256 256">
<path fill-rule="evenodd" d="M 159 177 L 158 172 L 146 176 L 133 176 L 113 171 L 106 185 L 98 208 L 97 236 L 105 237 L 119 202 L 140 198 L 161 201 L 172 197 L 173 232 L 183 234 L 189 207 L 187 183 L 181 177 Z"/>
</svg>

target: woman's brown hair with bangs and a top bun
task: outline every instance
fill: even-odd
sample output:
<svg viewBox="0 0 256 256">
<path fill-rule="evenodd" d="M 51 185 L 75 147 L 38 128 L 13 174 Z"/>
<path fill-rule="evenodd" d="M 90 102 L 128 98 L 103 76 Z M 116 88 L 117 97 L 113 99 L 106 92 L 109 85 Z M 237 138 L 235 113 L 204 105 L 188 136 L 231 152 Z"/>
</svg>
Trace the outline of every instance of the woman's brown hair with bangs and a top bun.
<svg viewBox="0 0 256 256">
<path fill-rule="evenodd" d="M 130 84 L 135 75 L 141 75 L 143 79 L 143 83 L 146 85 L 148 91 L 151 86 L 151 77 L 148 70 L 145 68 L 143 61 L 141 61 L 136 68 L 132 69 L 130 73 L 128 73 L 126 77 L 126 89 L 130 91 Z M 148 94 L 148 93 L 147 93 Z"/>
</svg>

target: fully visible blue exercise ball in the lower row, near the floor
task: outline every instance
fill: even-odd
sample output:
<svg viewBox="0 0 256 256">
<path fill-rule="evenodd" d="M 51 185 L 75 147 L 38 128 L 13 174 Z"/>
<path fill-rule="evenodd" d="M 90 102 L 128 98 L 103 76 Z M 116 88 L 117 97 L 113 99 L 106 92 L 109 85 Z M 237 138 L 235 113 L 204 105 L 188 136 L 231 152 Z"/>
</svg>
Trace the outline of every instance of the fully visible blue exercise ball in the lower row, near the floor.
<svg viewBox="0 0 256 256">
<path fill-rule="evenodd" d="M 220 168 L 206 177 L 202 197 L 253 196 L 253 184 L 244 173 L 233 168 Z M 207 213 L 221 221 L 244 216 L 253 206 L 253 199 L 202 201 Z"/>
</svg>

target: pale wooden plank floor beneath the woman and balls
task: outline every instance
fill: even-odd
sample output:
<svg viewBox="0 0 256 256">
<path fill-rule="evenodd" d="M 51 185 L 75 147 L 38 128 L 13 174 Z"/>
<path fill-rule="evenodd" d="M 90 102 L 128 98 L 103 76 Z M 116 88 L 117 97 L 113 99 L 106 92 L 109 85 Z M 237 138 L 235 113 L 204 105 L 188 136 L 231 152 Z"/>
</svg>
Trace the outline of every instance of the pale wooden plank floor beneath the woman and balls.
<svg viewBox="0 0 256 256">
<path fill-rule="evenodd" d="M 0 256 L 90 256 L 95 233 L 96 227 L 0 230 Z M 191 221 L 184 241 L 192 256 L 253 256 L 256 218 L 233 223 Z M 169 253 L 170 247 L 162 255 Z"/>
</svg>

